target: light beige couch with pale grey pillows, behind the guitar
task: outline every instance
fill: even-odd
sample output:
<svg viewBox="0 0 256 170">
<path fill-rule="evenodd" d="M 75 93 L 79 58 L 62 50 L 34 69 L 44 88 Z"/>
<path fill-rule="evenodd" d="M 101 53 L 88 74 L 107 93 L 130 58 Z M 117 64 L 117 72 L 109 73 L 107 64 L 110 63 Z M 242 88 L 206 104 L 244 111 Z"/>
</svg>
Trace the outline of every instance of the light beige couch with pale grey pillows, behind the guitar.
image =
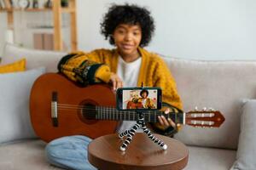
<svg viewBox="0 0 256 170">
<path fill-rule="evenodd" d="M 59 169 L 45 159 L 46 143 L 32 130 L 28 101 L 33 81 L 44 72 L 55 72 L 63 55 L 9 43 L 4 46 L 0 65 L 25 57 L 27 71 L 0 74 L 0 169 Z M 203 61 L 163 55 L 162 58 L 177 82 L 183 111 L 193 111 L 195 106 L 199 110 L 211 107 L 225 117 L 218 128 L 183 126 L 174 136 L 188 146 L 189 162 L 185 169 L 256 169 L 253 159 L 247 157 L 256 154 L 255 123 L 248 118 L 256 117 L 252 113 L 256 109 L 252 103 L 256 95 L 256 61 Z M 31 78 L 26 81 L 26 77 Z M 20 82 L 15 82 L 17 79 Z M 7 81 L 1 84 L 3 80 Z M 10 107 L 14 109 L 9 110 Z"/>
</svg>

